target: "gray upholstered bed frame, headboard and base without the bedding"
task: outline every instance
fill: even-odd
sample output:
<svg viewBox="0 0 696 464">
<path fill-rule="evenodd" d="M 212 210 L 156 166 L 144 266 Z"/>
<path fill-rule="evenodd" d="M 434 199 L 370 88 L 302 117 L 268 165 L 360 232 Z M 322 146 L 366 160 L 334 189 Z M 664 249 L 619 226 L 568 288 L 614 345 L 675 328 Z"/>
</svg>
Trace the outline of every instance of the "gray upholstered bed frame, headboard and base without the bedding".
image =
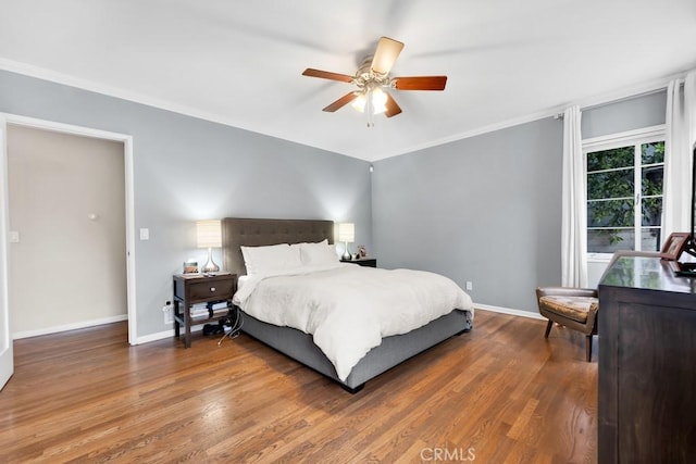
<svg viewBox="0 0 696 464">
<path fill-rule="evenodd" d="M 334 223 L 313 220 L 225 218 L 222 222 L 223 262 L 227 272 L 245 276 L 247 269 L 241 247 L 277 243 L 334 242 Z M 352 265 L 350 265 L 352 266 Z M 314 343 L 312 335 L 296 328 L 276 326 L 244 314 L 243 331 L 308 367 L 334 379 L 352 393 L 364 384 L 409 358 L 472 328 L 473 309 L 453 310 L 402 335 L 382 339 L 341 379 L 336 367 Z"/>
</svg>

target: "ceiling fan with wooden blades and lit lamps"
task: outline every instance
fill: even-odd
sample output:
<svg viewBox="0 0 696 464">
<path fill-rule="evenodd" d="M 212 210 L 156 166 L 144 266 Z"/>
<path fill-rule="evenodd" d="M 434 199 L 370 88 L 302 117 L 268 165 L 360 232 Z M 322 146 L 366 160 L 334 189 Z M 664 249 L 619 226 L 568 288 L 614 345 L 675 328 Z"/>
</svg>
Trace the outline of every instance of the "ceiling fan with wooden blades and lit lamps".
<svg viewBox="0 0 696 464">
<path fill-rule="evenodd" d="M 321 77 L 353 84 L 358 90 L 346 93 L 338 100 L 324 108 L 323 111 L 334 111 L 352 103 L 352 106 L 368 113 L 368 126 L 373 126 L 373 114 L 384 113 L 387 117 L 401 113 L 396 100 L 385 89 L 396 90 L 445 90 L 447 76 L 411 76 L 389 77 L 389 71 L 399 57 L 403 43 L 388 37 L 380 38 L 373 57 L 364 59 L 355 75 L 331 73 L 308 67 L 303 76 Z"/>
</svg>

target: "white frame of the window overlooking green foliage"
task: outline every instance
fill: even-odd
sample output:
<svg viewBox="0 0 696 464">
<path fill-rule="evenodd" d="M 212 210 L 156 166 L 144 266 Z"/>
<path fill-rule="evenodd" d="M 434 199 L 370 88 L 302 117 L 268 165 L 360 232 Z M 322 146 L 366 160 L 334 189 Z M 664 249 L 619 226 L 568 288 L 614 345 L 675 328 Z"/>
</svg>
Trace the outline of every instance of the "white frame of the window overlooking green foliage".
<svg viewBox="0 0 696 464">
<path fill-rule="evenodd" d="M 656 141 L 667 141 L 667 126 L 664 124 L 644 127 L 635 130 L 626 130 L 622 133 L 608 134 L 605 136 L 583 139 L 582 151 L 583 151 L 583 162 L 585 165 L 585 189 L 587 189 L 587 176 L 588 176 L 587 153 L 595 152 L 595 151 L 602 151 L 602 150 L 611 150 L 611 149 L 627 147 L 627 146 L 639 146 L 643 143 L 650 143 Z M 639 153 L 636 154 L 636 158 L 638 155 Z M 636 186 L 635 188 L 638 190 L 638 195 L 641 195 L 639 191 L 642 190 L 642 183 L 643 183 L 642 172 L 641 170 L 635 168 L 636 167 L 635 163 L 636 163 L 636 160 L 634 160 L 634 173 L 633 173 L 634 183 Z M 662 165 L 664 165 L 664 162 L 662 162 Z M 585 191 L 585 195 L 587 191 Z M 664 190 L 662 190 L 662 198 L 664 198 Z M 634 217 L 635 217 L 635 210 L 641 209 L 641 202 L 636 201 L 635 196 L 633 200 L 634 200 Z M 585 201 L 587 201 L 587 199 L 585 199 Z M 585 214 L 587 213 L 585 212 Z M 639 223 L 638 225 L 636 225 L 635 222 L 633 226 L 634 228 L 638 228 L 638 229 L 642 227 Z M 589 230 L 589 226 L 587 225 L 586 227 L 587 227 L 586 230 Z M 660 229 L 662 229 L 662 225 L 660 225 Z M 636 241 L 639 241 L 639 237 L 641 235 L 636 234 Z M 635 243 L 634 243 L 634 249 L 635 249 Z M 605 263 L 605 262 L 609 262 L 612 255 L 613 253 L 600 253 L 600 252 L 587 251 L 586 261 Z"/>
</svg>

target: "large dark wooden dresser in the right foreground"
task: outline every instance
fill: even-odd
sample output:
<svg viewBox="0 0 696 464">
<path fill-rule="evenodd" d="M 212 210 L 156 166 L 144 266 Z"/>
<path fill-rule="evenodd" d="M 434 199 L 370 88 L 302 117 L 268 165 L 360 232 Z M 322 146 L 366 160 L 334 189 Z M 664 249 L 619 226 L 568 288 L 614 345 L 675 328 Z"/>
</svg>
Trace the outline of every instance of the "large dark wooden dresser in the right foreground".
<svg viewBox="0 0 696 464">
<path fill-rule="evenodd" d="M 624 256 L 599 284 L 599 463 L 696 462 L 696 279 Z"/>
</svg>

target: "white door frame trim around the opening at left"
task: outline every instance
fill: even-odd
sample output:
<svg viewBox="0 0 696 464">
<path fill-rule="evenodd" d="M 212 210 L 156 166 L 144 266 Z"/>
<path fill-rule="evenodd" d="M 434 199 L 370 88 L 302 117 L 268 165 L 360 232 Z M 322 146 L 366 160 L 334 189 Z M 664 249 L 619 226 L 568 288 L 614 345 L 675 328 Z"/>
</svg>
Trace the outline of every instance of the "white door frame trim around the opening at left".
<svg viewBox="0 0 696 464">
<path fill-rule="evenodd" d="M 38 120 L 35 117 L 20 116 L 16 114 L 0 113 L 0 130 L 4 134 L 2 137 L 3 147 L 0 152 L 2 159 L 0 160 L 0 180 L 5 188 L 0 189 L 0 238 L 2 244 L 0 244 L 0 268 L 5 269 L 4 273 L 0 273 L 0 288 L 4 289 L 0 292 L 0 296 L 4 294 L 3 301 L 0 301 L 0 305 L 5 305 L 8 313 L 9 308 L 9 269 L 10 269 L 10 253 L 8 249 L 8 231 L 9 231 L 9 212 L 10 212 L 10 199 L 8 196 L 7 186 L 9 183 L 8 173 L 8 125 L 18 125 L 25 127 L 33 127 L 37 129 L 50 130 L 54 133 L 70 134 L 82 137 L 91 137 L 98 139 L 105 139 L 112 141 L 123 142 L 123 156 L 124 156 L 124 184 L 125 184 L 125 223 L 126 223 L 126 304 L 128 314 L 128 343 L 138 344 L 138 328 L 137 328 L 137 313 L 136 313 L 136 298 L 135 298 L 135 195 L 134 195 L 134 168 L 133 168 L 133 136 L 126 134 L 111 133 L 107 130 L 94 129 L 90 127 L 75 126 L 71 124 L 57 123 L 53 121 Z M 4 220 L 4 224 L 3 221 Z M 1 310 L 1 309 L 0 309 Z M 2 311 L 0 311 L 2 314 Z M 7 326 L 9 333 L 9 325 Z M 11 339 L 11 335 L 10 335 Z M 0 347 L 1 348 L 1 347 Z"/>
</svg>

